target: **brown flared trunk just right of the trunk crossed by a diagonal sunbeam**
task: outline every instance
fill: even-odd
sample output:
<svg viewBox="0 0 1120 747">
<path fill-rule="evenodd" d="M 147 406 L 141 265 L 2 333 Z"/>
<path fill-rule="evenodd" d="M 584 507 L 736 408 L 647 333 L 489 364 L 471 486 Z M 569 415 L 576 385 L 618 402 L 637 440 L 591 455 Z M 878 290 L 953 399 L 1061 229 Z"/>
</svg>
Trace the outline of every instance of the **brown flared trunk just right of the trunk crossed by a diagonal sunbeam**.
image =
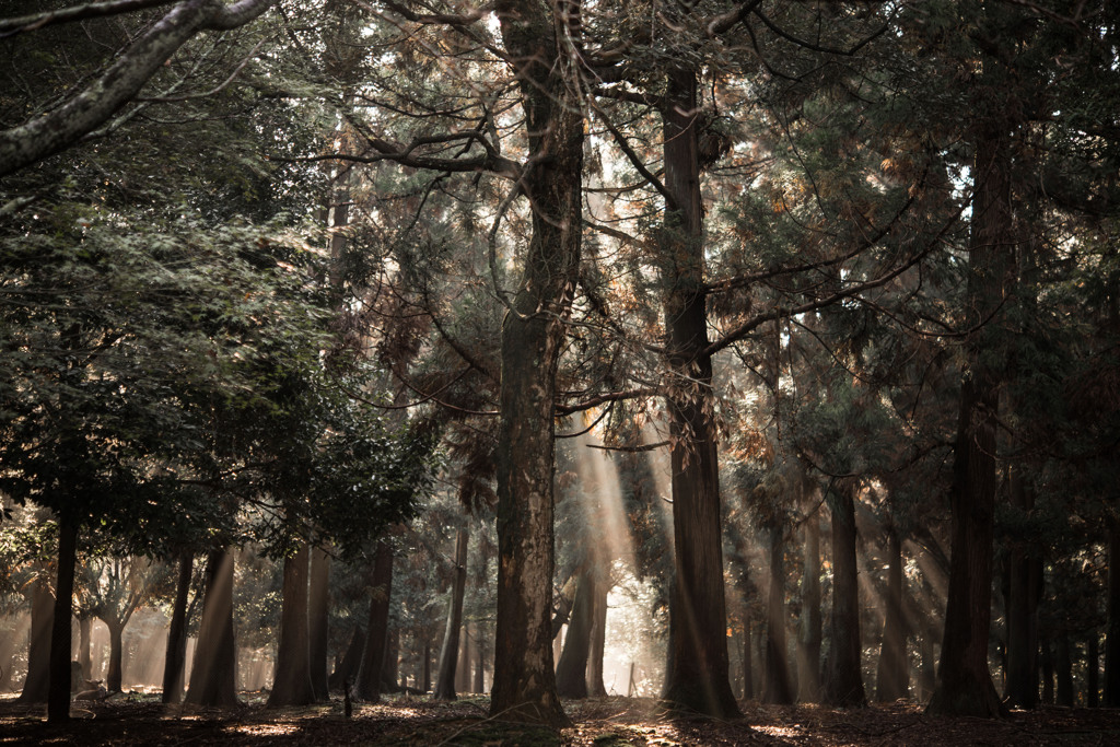
<svg viewBox="0 0 1120 747">
<path fill-rule="evenodd" d="M 307 624 L 308 577 L 311 551 L 301 543 L 283 561 L 283 598 L 280 608 L 280 643 L 268 707 L 307 706 L 315 702 L 311 687 L 310 636 Z"/>
</svg>

